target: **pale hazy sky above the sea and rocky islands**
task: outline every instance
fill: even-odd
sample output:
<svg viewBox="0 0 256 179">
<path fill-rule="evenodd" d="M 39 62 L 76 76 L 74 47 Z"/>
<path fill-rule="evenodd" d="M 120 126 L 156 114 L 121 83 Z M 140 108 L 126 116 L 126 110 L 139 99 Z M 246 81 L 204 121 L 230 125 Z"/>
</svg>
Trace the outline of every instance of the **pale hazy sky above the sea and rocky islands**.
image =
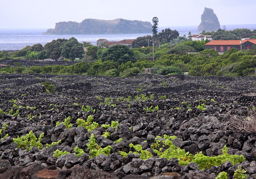
<svg viewBox="0 0 256 179">
<path fill-rule="evenodd" d="M 0 29 L 54 28 L 56 22 L 124 18 L 159 26 L 199 25 L 204 7 L 220 25 L 256 24 L 256 0 L 0 0 Z"/>
</svg>

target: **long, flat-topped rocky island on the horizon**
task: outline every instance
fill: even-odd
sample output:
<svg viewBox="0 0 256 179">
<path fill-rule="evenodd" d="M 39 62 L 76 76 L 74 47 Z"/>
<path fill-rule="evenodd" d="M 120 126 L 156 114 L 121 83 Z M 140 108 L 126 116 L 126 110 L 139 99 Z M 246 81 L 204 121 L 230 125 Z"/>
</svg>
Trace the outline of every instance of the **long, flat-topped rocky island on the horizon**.
<svg viewBox="0 0 256 179">
<path fill-rule="evenodd" d="M 84 19 L 82 22 L 58 22 L 54 29 L 48 29 L 44 35 L 59 34 L 118 34 L 118 33 L 151 33 L 150 22 L 138 20 Z"/>
</svg>

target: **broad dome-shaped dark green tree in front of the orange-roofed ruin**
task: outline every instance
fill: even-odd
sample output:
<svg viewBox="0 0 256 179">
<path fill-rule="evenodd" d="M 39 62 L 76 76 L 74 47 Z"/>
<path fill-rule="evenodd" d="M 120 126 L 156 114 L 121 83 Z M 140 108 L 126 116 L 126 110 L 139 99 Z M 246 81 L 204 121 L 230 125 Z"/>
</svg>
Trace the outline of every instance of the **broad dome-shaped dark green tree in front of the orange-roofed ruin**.
<svg viewBox="0 0 256 179">
<path fill-rule="evenodd" d="M 113 60 L 119 64 L 125 63 L 127 61 L 135 62 L 134 53 L 131 48 L 126 45 L 114 45 L 109 47 L 107 51 L 101 54 L 102 61 Z"/>
</svg>

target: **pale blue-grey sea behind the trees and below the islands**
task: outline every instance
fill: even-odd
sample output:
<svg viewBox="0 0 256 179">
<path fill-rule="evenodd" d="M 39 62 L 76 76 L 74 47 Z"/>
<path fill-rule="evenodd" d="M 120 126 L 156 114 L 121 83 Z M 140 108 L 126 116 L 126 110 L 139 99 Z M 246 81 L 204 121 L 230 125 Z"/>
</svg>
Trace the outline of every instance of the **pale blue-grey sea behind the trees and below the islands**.
<svg viewBox="0 0 256 179">
<path fill-rule="evenodd" d="M 220 26 L 221 28 L 223 25 Z M 162 29 L 171 28 L 177 30 L 180 36 L 188 36 L 188 32 L 191 34 L 200 33 L 197 32 L 197 25 L 192 26 L 164 26 L 159 27 L 158 32 Z M 236 28 L 256 29 L 256 24 L 249 25 L 226 25 L 227 30 L 233 30 Z M 137 37 L 152 35 L 147 33 L 134 33 L 134 34 L 93 34 L 93 35 L 42 35 L 47 29 L 0 29 L 0 51 L 1 50 L 20 50 L 27 45 L 34 45 L 37 43 L 43 46 L 51 42 L 54 39 L 65 38 L 69 39 L 75 37 L 79 42 L 87 41 L 96 45 L 98 39 L 108 39 L 109 41 L 119 41 L 123 39 L 136 39 Z"/>
</svg>

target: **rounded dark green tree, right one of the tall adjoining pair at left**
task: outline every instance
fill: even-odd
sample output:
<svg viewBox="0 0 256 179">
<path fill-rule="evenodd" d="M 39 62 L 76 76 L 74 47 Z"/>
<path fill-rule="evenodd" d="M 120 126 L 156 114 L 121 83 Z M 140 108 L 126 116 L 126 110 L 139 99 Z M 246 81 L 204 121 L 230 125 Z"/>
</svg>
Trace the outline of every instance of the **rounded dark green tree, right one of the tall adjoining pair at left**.
<svg viewBox="0 0 256 179">
<path fill-rule="evenodd" d="M 60 47 L 61 55 L 74 61 L 75 58 L 83 58 L 84 49 L 83 45 L 77 41 L 76 38 L 71 37 Z"/>
</svg>

